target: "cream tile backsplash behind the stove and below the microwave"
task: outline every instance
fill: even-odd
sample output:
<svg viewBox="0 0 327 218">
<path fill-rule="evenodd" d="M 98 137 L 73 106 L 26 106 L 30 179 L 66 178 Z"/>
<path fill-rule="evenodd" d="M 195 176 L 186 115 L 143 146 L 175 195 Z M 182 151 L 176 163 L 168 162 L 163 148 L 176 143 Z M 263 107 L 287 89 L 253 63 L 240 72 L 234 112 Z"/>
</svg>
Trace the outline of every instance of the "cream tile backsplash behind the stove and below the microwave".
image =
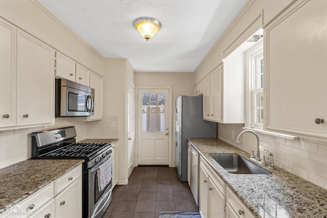
<svg viewBox="0 0 327 218">
<path fill-rule="evenodd" d="M 86 138 L 118 138 L 118 116 L 86 121 L 86 117 L 56 118 L 55 125 L 0 131 L 0 168 L 31 158 L 31 133 L 44 129 L 75 126 L 76 141 Z M 81 135 L 78 134 L 81 130 Z"/>
</svg>

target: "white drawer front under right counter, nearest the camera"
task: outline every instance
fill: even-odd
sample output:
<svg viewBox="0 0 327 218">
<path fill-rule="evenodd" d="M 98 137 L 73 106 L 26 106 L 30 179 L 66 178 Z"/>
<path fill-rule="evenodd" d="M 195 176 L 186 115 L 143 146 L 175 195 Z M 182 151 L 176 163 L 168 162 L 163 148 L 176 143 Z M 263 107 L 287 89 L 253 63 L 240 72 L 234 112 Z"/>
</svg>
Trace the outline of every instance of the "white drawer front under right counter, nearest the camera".
<svg viewBox="0 0 327 218">
<path fill-rule="evenodd" d="M 226 199 L 229 206 L 235 211 L 235 213 L 239 214 L 239 217 L 255 217 L 250 209 L 245 206 L 245 204 L 230 188 L 227 188 L 226 194 Z"/>
</svg>

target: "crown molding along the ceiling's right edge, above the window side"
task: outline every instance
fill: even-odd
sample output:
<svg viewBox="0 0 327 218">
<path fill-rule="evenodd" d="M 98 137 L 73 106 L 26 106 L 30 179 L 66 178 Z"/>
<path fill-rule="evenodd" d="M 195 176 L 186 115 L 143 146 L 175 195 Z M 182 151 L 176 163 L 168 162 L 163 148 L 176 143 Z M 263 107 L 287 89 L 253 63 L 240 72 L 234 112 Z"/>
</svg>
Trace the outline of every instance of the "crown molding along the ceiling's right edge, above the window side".
<svg viewBox="0 0 327 218">
<path fill-rule="evenodd" d="M 235 27 L 236 23 L 243 17 L 245 12 L 251 7 L 251 5 L 255 2 L 255 0 L 248 0 L 245 5 L 241 8 L 239 13 L 232 19 L 232 21 L 229 23 L 225 31 L 221 34 L 221 36 L 218 38 L 218 40 L 215 42 L 215 44 L 211 47 L 209 52 L 204 56 L 202 61 L 199 63 L 199 65 L 195 68 L 194 73 L 199 70 L 199 68 L 204 64 L 204 62 L 208 59 L 208 57 L 217 49 L 218 45 L 225 39 L 225 37 L 228 35 L 228 33 L 231 31 L 233 27 Z"/>
</svg>

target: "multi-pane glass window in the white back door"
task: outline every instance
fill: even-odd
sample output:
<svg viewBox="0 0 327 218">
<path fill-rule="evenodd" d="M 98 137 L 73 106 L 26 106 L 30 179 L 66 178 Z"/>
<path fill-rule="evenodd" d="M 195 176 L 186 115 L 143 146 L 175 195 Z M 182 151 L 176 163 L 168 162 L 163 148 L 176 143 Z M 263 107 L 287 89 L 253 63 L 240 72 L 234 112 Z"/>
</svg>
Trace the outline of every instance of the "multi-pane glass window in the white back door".
<svg viewBox="0 0 327 218">
<path fill-rule="evenodd" d="M 165 131 L 165 94 L 142 94 L 142 132 Z"/>
</svg>

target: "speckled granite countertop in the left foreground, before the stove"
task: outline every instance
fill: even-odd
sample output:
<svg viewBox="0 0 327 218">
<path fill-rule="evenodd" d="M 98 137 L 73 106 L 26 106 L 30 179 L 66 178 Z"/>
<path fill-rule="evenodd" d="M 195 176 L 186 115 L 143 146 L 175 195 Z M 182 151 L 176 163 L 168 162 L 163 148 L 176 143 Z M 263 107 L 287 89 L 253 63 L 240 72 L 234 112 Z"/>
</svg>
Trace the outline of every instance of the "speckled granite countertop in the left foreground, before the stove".
<svg viewBox="0 0 327 218">
<path fill-rule="evenodd" d="M 0 169 L 0 213 L 70 171 L 84 160 L 28 159 Z"/>
</svg>

